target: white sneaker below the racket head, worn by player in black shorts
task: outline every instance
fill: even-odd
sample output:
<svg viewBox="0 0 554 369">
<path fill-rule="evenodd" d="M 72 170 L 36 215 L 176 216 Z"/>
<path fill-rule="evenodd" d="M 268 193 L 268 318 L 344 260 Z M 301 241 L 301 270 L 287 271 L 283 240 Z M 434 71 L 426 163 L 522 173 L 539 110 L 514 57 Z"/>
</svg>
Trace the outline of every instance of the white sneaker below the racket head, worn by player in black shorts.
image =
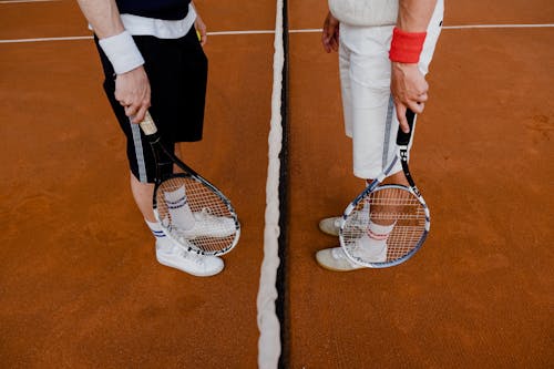
<svg viewBox="0 0 554 369">
<path fill-rule="evenodd" d="M 224 263 L 217 256 L 198 255 L 177 245 L 162 246 L 156 243 L 156 259 L 160 264 L 183 270 L 197 277 L 208 277 L 223 270 Z"/>
</svg>

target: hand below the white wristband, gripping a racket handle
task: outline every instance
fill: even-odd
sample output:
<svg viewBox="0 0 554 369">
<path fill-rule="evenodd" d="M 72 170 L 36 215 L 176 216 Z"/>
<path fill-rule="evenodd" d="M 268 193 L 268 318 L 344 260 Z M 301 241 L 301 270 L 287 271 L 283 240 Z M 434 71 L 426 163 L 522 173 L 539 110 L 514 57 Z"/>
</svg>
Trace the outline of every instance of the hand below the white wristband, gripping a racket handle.
<svg viewBox="0 0 554 369">
<path fill-rule="evenodd" d="M 150 107 L 150 81 L 141 65 L 115 78 L 115 100 L 133 123 L 141 123 Z"/>
</svg>

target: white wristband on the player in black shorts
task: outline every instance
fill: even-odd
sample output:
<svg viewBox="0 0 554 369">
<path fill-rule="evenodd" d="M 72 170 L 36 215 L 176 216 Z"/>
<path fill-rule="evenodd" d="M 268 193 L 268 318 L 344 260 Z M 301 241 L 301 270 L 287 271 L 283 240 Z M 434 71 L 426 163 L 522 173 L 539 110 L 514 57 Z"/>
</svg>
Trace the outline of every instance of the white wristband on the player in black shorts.
<svg viewBox="0 0 554 369">
<path fill-rule="evenodd" d="M 127 31 L 99 40 L 99 43 L 110 59 L 115 74 L 132 71 L 144 64 L 144 58 Z"/>
</svg>

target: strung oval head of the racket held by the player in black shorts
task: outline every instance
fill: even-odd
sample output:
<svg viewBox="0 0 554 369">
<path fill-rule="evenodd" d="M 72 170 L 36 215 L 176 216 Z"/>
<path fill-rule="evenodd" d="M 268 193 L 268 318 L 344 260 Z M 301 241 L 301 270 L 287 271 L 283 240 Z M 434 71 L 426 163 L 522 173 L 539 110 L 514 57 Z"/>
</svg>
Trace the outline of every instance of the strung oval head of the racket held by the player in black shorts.
<svg viewBox="0 0 554 369">
<path fill-rule="evenodd" d="M 175 208 L 175 203 L 183 206 Z M 162 182 L 156 188 L 156 213 L 164 230 L 185 248 L 223 254 L 237 236 L 238 222 L 228 204 L 193 177 Z"/>
</svg>

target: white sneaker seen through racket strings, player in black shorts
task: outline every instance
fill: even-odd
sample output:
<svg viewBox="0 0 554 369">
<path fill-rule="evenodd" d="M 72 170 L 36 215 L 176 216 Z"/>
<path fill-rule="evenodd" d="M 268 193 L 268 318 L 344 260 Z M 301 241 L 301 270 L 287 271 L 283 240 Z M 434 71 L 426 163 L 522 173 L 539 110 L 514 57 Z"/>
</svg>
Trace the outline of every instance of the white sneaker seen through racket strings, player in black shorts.
<svg viewBox="0 0 554 369">
<path fill-rule="evenodd" d="M 204 208 L 202 212 L 194 212 L 194 226 L 189 229 L 174 229 L 178 235 L 193 239 L 196 237 L 216 237 L 225 238 L 236 232 L 235 219 L 225 216 L 212 215 L 209 209 Z"/>
</svg>

